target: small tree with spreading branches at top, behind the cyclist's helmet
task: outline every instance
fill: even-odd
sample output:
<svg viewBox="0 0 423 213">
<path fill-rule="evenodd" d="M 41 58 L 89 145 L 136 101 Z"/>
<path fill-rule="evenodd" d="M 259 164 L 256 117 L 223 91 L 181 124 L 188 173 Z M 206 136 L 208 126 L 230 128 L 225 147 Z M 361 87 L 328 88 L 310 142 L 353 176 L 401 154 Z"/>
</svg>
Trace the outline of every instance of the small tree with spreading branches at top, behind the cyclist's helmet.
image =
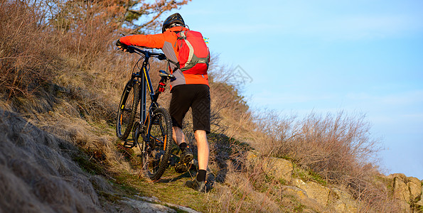
<svg viewBox="0 0 423 213">
<path fill-rule="evenodd" d="M 114 30 L 144 33 L 144 28 L 156 31 L 164 12 L 178 9 L 188 1 L 191 0 L 49 0 L 45 8 L 48 18 L 63 31 L 73 31 L 83 23 L 99 19 Z"/>
</svg>

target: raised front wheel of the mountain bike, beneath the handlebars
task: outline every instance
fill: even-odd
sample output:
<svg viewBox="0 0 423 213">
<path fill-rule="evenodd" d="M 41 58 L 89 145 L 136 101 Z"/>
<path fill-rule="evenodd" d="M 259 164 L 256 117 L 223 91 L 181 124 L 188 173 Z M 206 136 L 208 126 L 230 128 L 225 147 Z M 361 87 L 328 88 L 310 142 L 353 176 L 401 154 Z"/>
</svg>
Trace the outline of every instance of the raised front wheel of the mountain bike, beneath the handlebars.
<svg viewBox="0 0 423 213">
<path fill-rule="evenodd" d="M 138 104 L 139 84 L 129 81 L 124 92 L 122 92 L 119 109 L 117 110 L 116 136 L 122 141 L 126 140 L 131 133 Z"/>
</svg>

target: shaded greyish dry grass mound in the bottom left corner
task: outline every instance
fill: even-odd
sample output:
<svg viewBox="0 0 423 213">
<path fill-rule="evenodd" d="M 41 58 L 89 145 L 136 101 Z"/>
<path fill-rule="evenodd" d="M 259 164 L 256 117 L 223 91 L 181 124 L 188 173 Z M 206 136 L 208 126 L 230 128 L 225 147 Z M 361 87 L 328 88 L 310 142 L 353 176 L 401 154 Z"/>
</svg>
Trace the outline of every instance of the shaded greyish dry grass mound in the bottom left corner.
<svg viewBox="0 0 423 213">
<path fill-rule="evenodd" d="M 14 114 L 1 114 L 1 209 L 101 212 L 89 177 L 70 159 L 77 149 Z M 60 190 L 58 190 L 60 189 Z"/>
</svg>

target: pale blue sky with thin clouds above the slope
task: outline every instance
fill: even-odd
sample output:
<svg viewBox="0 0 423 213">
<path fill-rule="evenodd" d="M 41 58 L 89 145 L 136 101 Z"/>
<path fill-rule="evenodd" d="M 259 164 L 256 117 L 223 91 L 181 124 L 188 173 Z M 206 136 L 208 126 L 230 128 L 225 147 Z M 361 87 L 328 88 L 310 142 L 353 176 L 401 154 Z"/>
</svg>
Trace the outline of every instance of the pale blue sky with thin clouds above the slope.
<svg viewBox="0 0 423 213">
<path fill-rule="evenodd" d="M 251 107 L 364 113 L 382 168 L 423 179 L 423 1 L 194 0 L 178 12 L 250 75 Z"/>
</svg>

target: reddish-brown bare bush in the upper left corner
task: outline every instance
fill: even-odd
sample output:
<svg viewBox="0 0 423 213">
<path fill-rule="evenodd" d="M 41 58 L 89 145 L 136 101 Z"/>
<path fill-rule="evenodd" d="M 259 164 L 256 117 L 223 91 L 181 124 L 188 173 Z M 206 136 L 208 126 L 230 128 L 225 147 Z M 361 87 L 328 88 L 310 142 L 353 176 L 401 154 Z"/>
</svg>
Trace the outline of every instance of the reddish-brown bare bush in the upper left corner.
<svg viewBox="0 0 423 213">
<path fill-rule="evenodd" d="M 0 89 L 10 97 L 38 92 L 60 63 L 42 11 L 31 1 L 0 1 Z"/>
</svg>

